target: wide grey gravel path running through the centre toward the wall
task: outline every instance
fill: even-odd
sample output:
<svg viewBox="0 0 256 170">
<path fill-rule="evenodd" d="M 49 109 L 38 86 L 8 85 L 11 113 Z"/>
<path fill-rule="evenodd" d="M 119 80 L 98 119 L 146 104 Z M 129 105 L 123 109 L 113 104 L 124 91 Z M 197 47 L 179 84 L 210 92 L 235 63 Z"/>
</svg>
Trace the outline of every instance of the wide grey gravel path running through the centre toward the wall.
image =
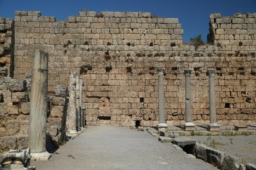
<svg viewBox="0 0 256 170">
<path fill-rule="evenodd" d="M 31 161 L 31 165 L 37 170 L 216 169 L 147 132 L 119 126 L 89 126 L 56 152 L 49 161 Z"/>
</svg>

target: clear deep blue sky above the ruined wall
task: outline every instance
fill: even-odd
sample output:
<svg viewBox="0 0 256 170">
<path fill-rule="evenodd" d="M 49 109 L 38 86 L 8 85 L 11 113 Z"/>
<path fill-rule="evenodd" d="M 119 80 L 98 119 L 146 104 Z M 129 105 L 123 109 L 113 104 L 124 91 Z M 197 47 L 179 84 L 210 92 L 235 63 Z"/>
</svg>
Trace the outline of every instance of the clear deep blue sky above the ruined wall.
<svg viewBox="0 0 256 170">
<path fill-rule="evenodd" d="M 67 20 L 79 11 L 151 12 L 158 17 L 179 18 L 182 39 L 202 34 L 207 41 L 209 14 L 256 13 L 256 0 L 0 0 L 0 16 L 14 18 L 14 11 L 41 11 L 42 16 Z"/>
</svg>

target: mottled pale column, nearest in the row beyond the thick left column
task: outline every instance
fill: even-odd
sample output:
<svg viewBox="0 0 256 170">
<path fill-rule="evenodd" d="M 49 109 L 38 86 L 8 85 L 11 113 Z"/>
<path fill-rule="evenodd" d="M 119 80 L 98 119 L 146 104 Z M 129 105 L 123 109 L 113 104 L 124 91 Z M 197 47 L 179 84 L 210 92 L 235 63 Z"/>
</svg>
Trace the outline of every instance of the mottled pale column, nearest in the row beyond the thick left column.
<svg viewBox="0 0 256 170">
<path fill-rule="evenodd" d="M 76 131 L 76 74 L 70 73 L 70 94 L 68 101 L 68 128 L 69 133 Z"/>
</svg>

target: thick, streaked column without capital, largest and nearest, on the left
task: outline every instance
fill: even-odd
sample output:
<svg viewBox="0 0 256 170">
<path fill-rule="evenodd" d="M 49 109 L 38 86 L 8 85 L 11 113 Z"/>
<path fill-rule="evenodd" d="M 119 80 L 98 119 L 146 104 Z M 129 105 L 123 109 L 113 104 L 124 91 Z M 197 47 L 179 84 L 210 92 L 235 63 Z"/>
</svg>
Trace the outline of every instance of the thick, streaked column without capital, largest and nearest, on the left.
<svg viewBox="0 0 256 170">
<path fill-rule="evenodd" d="M 46 151 L 48 53 L 32 51 L 31 98 L 29 110 L 29 148 L 36 160 L 48 160 Z"/>
</svg>

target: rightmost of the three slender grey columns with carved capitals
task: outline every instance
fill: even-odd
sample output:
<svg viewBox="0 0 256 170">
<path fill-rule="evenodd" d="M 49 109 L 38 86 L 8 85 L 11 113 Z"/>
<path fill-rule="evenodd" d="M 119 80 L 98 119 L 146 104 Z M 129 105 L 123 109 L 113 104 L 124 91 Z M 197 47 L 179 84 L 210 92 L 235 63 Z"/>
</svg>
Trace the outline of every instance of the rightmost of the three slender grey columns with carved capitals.
<svg viewBox="0 0 256 170">
<path fill-rule="evenodd" d="M 208 131 L 220 131 L 220 125 L 216 123 L 216 102 L 215 102 L 215 82 L 214 69 L 207 69 L 209 76 L 209 109 L 210 109 L 210 124 L 207 125 Z"/>
</svg>

